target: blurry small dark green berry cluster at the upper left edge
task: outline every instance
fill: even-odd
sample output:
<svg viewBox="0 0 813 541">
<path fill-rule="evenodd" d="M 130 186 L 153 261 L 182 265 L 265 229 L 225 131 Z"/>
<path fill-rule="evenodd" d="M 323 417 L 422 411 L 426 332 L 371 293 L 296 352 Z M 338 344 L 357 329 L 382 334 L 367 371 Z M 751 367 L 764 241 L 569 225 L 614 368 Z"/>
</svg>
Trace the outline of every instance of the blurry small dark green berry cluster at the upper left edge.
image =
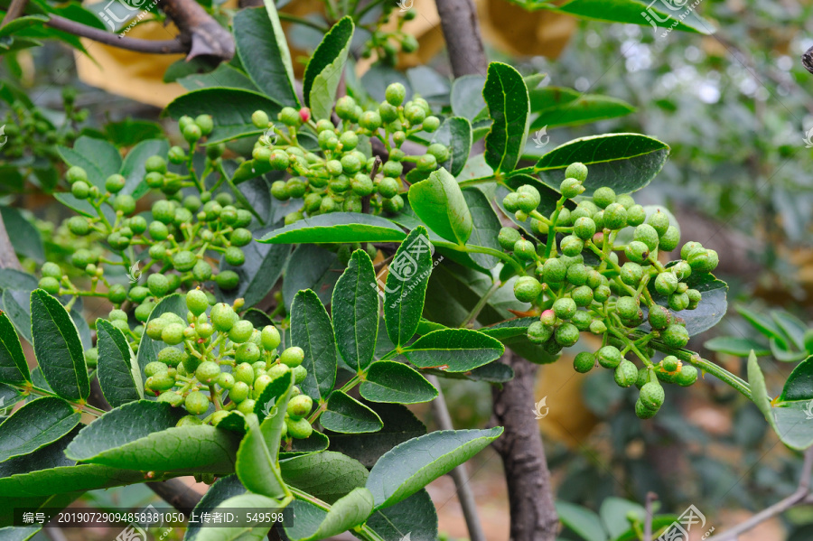
<svg viewBox="0 0 813 541">
<path fill-rule="evenodd" d="M 75 89 L 62 89 L 65 116 L 59 127 L 53 126 L 41 109 L 15 100 L 5 115 L 0 117 L 0 126 L 4 128 L 0 132 L 3 156 L 16 159 L 28 154 L 48 158 L 53 163 L 60 162 L 57 145 L 70 145 L 77 135 L 71 125 L 88 118 L 88 110 L 78 109 L 74 104 L 75 99 Z"/>
</svg>

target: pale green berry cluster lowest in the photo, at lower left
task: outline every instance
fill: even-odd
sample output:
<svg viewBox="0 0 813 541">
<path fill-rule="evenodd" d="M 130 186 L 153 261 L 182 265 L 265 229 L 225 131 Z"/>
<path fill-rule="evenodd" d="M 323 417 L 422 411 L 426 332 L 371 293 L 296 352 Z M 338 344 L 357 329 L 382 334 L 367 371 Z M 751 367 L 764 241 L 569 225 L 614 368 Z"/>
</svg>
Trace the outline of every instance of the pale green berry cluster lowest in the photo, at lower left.
<svg viewBox="0 0 813 541">
<path fill-rule="evenodd" d="M 257 404 L 266 387 L 292 372 L 294 384 L 307 376 L 302 365 L 304 351 L 291 347 L 280 353 L 276 327 L 256 329 L 253 323 L 240 319 L 236 310 L 241 304 L 238 299 L 233 305 L 211 306 L 206 294 L 193 289 L 186 294 L 186 322 L 166 312 L 147 323 L 146 335 L 166 345 L 158 351 L 157 360 L 145 367 L 145 392 L 158 396 L 160 402 L 183 406 L 190 415 L 179 425 L 217 425 L 230 411 L 271 415 L 267 405 Z M 198 415 L 212 408 L 201 420 Z M 294 385 L 283 435 L 297 439 L 310 436 L 313 427 L 307 415 L 312 409 L 311 397 Z"/>
</svg>

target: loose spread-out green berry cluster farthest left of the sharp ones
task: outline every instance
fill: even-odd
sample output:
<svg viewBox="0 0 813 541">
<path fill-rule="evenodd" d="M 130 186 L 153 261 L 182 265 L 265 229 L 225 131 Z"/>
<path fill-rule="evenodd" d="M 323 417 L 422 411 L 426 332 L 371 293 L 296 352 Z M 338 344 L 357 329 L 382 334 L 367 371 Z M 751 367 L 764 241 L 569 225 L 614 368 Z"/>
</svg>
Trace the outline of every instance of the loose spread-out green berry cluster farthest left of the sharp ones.
<svg viewBox="0 0 813 541">
<path fill-rule="evenodd" d="M 188 290 L 213 283 L 230 291 L 238 286 L 237 273 L 218 271 L 218 260 L 230 266 L 243 265 L 246 260 L 243 247 L 253 239 L 248 229 L 253 216 L 249 210 L 240 208 L 228 192 L 213 195 L 215 190 L 204 189 L 205 174 L 220 165 L 222 149 L 211 152 L 211 146 L 207 147 L 204 175 L 198 177 L 194 171 L 194 145 L 211 132 L 211 117 L 182 117 L 179 127 L 192 149 L 187 153 L 173 146 L 168 157 L 171 163 L 186 163 L 187 170 L 169 171 L 162 156 L 146 159 L 144 182 L 163 194 L 152 202 L 148 212 L 136 213 L 135 198 L 124 191 L 126 179 L 122 175 L 110 175 L 104 188 L 99 188 L 89 182 L 88 173 L 81 167 L 68 169 L 65 179 L 70 192 L 97 211 L 95 217 L 68 219 L 70 234 L 75 238 L 104 239 L 109 252 L 116 257 L 109 257 L 109 252 L 98 248 L 79 247 L 70 263 L 89 277 L 89 288 L 80 288 L 61 266 L 48 263 L 42 266 L 42 289 L 54 295 L 105 296 L 115 306 L 129 302 L 135 305 L 135 319 L 146 322 L 155 304 L 179 288 Z M 221 176 L 218 185 L 222 179 Z M 182 189 L 191 190 L 184 196 Z M 116 212 L 115 219 L 109 219 L 107 206 Z M 105 267 L 110 265 L 124 267 L 129 278 L 126 284 L 107 279 Z"/>
</svg>

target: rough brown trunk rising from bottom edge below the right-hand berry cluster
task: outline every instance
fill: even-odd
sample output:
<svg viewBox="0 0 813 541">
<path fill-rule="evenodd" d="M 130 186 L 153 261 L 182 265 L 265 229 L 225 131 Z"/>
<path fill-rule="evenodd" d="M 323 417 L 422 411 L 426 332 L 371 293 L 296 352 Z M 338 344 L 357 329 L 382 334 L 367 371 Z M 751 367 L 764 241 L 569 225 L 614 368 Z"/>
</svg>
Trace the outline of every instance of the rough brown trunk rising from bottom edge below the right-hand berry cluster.
<svg viewBox="0 0 813 541">
<path fill-rule="evenodd" d="M 514 369 L 514 378 L 493 387 L 491 424 L 505 427 L 492 443 L 502 458 L 508 482 L 511 541 L 553 541 L 558 518 L 547 470 L 545 448 L 534 411 L 537 365 L 511 351 L 501 359 Z"/>
</svg>

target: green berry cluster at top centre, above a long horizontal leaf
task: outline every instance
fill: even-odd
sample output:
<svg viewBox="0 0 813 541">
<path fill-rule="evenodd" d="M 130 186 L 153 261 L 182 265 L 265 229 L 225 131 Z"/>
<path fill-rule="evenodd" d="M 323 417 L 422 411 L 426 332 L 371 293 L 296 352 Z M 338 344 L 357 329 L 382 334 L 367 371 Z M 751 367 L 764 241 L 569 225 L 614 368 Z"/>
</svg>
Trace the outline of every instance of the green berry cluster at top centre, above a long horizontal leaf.
<svg viewBox="0 0 813 541">
<path fill-rule="evenodd" d="M 274 182 L 271 194 L 279 201 L 304 198 L 303 209 L 286 216 L 286 223 L 305 214 L 366 211 L 367 205 L 373 213 L 397 213 L 404 208 L 404 163 L 414 163 L 417 173 L 428 174 L 450 155 L 449 148 L 440 144 L 429 145 L 423 155 L 407 155 L 401 149 L 409 135 L 432 133 L 440 126 L 440 119 L 432 115 L 425 99 L 404 103 L 405 97 L 404 85 L 394 83 L 388 86 L 386 99 L 373 110 L 362 110 L 349 96 L 339 98 L 339 127 L 328 119 L 314 122 L 307 108 L 283 108 L 278 121 L 286 129 L 275 126 L 264 111 L 252 115 L 254 125 L 266 129 L 252 152 L 255 162 L 292 175 L 287 181 Z M 305 127 L 315 133 L 322 155 L 307 150 L 297 140 Z M 387 162 L 381 164 L 360 151 L 369 148 L 369 137 L 378 138 L 385 146 Z"/>
</svg>

